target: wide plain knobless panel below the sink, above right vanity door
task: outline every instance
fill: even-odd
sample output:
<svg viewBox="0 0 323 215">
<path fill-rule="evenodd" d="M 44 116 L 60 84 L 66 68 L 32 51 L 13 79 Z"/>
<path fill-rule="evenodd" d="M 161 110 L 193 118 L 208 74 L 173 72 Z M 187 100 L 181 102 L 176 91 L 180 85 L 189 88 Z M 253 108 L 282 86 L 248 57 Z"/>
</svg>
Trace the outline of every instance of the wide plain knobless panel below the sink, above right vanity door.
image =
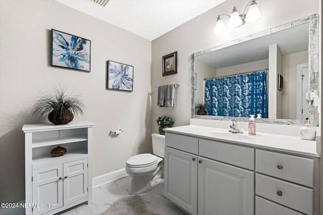
<svg viewBox="0 0 323 215">
<path fill-rule="evenodd" d="M 199 155 L 238 167 L 254 170 L 254 149 L 224 142 L 199 139 Z"/>
</svg>

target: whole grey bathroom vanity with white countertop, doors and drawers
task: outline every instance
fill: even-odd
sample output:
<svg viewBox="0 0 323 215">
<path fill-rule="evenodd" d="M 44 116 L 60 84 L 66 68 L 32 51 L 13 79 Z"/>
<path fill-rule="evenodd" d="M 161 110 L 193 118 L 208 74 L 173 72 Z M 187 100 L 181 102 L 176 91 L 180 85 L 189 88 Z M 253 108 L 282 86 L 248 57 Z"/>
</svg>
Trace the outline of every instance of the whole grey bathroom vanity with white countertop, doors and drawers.
<svg viewBox="0 0 323 215">
<path fill-rule="evenodd" d="M 165 130 L 165 195 L 189 213 L 319 214 L 316 141 L 197 125 Z"/>
</svg>

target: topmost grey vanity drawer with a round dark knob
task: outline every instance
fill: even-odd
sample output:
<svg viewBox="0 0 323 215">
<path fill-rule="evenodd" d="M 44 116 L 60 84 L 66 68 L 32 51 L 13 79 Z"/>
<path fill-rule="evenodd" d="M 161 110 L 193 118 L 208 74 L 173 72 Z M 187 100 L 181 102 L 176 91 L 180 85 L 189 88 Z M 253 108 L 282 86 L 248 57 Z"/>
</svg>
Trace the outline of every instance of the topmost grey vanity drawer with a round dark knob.
<svg viewBox="0 0 323 215">
<path fill-rule="evenodd" d="M 314 160 L 256 150 L 256 172 L 313 187 Z"/>
</svg>

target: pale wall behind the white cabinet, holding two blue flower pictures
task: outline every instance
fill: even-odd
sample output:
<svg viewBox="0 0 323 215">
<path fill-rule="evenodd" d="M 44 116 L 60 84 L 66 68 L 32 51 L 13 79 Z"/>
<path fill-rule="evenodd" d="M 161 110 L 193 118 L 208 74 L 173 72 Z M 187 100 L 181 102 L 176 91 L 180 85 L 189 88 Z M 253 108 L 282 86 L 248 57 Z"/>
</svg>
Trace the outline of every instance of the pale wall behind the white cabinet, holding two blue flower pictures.
<svg viewBox="0 0 323 215">
<path fill-rule="evenodd" d="M 95 123 L 93 177 L 151 152 L 151 41 L 53 0 L 0 1 L 0 202 L 24 199 L 23 124 L 40 90 L 67 86 L 86 109 L 75 120 Z M 91 72 L 50 66 L 50 29 L 91 40 Z M 107 60 L 134 66 L 133 92 L 109 91 Z M 108 136 L 109 128 L 124 132 Z"/>
</svg>

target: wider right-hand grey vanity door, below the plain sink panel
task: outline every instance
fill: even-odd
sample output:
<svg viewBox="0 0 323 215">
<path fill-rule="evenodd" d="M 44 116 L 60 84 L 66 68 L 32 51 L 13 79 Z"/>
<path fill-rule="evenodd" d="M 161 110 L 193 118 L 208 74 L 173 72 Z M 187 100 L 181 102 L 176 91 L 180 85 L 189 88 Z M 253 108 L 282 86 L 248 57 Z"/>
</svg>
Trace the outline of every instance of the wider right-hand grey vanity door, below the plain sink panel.
<svg viewBox="0 0 323 215">
<path fill-rule="evenodd" d="M 198 214 L 254 214 L 254 173 L 199 157 Z"/>
</svg>

